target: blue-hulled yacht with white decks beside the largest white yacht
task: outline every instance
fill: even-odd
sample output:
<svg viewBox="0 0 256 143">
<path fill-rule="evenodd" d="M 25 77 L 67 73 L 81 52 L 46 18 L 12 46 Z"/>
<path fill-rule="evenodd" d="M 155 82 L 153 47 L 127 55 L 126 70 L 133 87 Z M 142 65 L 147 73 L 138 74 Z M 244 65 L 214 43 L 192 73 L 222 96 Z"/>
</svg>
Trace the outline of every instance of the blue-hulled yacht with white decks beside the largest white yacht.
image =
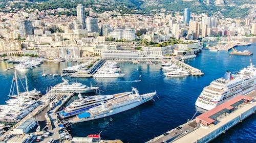
<svg viewBox="0 0 256 143">
<path fill-rule="evenodd" d="M 132 92 L 125 92 L 125 93 L 119 93 L 114 95 L 104 95 L 104 96 L 86 96 L 79 99 L 74 100 L 72 103 L 70 103 L 66 108 L 64 108 L 60 113 L 60 118 L 68 118 L 75 115 L 78 115 L 79 113 L 82 113 L 92 107 L 101 105 L 100 102 L 108 101 L 110 99 L 113 99 L 118 96 L 122 95 L 129 95 Z"/>
</svg>

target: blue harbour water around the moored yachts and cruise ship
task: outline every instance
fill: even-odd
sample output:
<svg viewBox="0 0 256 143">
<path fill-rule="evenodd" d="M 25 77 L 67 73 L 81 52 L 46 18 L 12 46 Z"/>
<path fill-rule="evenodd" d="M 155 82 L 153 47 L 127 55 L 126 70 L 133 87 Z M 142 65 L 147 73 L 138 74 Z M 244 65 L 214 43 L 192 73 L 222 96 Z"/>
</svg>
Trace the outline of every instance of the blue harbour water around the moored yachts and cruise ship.
<svg viewBox="0 0 256 143">
<path fill-rule="evenodd" d="M 256 54 L 256 43 L 251 46 L 237 47 L 238 50 L 249 50 Z M 71 78 L 70 81 L 99 87 L 101 95 L 116 94 L 131 91 L 135 87 L 141 94 L 157 92 L 155 101 L 146 102 L 136 108 L 127 110 L 111 117 L 89 122 L 77 123 L 69 127 L 72 136 L 87 136 L 101 132 L 103 139 L 121 139 L 123 142 L 145 142 L 167 130 L 171 130 L 191 119 L 196 112 L 195 102 L 203 88 L 212 80 L 222 77 L 226 71 L 236 73 L 250 61 L 255 65 L 255 54 L 251 56 L 229 55 L 226 51 L 209 52 L 203 50 L 195 60 L 187 61 L 191 66 L 202 70 L 204 76 L 189 76 L 182 78 L 164 77 L 160 65 L 147 65 L 145 63 L 120 63 L 123 78 Z M 45 93 L 47 87 L 62 82 L 61 77 L 47 76 L 45 73 L 60 73 L 61 69 L 76 63 L 48 62 L 33 70 L 19 71 L 23 81 L 27 75 L 29 88 Z M 12 82 L 12 64 L 0 62 L 0 104 L 5 104 Z M 136 82 L 135 80 L 141 80 Z M 20 87 L 22 87 L 20 85 Z M 74 100 L 76 97 L 71 99 Z M 71 102 L 70 101 L 70 102 Z M 256 142 L 255 115 L 243 121 L 238 126 L 227 131 L 213 142 Z"/>
</svg>

